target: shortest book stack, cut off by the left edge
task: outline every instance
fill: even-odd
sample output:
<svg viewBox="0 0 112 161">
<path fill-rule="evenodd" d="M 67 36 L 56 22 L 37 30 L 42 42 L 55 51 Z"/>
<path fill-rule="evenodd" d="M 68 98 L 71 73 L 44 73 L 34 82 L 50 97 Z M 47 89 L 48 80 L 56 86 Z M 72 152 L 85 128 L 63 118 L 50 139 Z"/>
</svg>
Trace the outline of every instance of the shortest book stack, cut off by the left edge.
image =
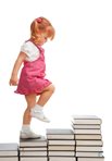
<svg viewBox="0 0 112 161">
<path fill-rule="evenodd" d="M 18 161 L 17 144 L 0 144 L 0 161 Z"/>
</svg>

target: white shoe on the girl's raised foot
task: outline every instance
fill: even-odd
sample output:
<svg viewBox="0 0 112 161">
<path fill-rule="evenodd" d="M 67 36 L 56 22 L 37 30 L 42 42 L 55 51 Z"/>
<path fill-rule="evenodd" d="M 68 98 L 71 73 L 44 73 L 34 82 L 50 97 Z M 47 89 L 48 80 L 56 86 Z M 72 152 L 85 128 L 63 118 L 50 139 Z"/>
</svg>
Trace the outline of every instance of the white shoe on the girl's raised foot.
<svg viewBox="0 0 112 161">
<path fill-rule="evenodd" d="M 36 110 L 36 109 L 32 109 L 30 115 L 32 115 L 33 117 L 36 117 L 36 119 L 42 121 L 42 122 L 47 122 L 47 123 L 50 122 L 50 120 L 45 116 L 45 114 L 43 114 L 42 111 L 38 111 L 38 110 Z"/>
</svg>

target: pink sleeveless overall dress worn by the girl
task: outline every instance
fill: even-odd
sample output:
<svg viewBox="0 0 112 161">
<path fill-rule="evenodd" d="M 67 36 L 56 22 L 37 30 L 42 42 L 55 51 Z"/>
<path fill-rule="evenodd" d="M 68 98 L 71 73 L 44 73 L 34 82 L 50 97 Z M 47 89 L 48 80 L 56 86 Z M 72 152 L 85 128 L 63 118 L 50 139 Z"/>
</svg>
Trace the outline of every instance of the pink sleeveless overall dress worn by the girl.
<svg viewBox="0 0 112 161">
<path fill-rule="evenodd" d="M 50 81 L 46 79 L 46 63 L 45 63 L 45 50 L 41 46 L 35 45 L 40 55 L 35 61 L 24 61 L 24 66 L 21 72 L 16 94 L 21 95 L 39 95 L 42 90 L 51 84 Z"/>
</svg>

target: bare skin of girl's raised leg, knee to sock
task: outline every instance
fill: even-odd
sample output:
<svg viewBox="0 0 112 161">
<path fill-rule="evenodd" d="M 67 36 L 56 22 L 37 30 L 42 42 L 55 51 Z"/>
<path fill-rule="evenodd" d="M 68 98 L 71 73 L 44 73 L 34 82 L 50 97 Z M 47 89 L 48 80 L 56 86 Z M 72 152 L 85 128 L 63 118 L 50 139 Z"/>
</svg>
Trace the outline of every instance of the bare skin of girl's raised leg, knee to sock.
<svg viewBox="0 0 112 161">
<path fill-rule="evenodd" d="M 39 104 L 40 107 L 43 107 L 47 103 L 47 101 L 50 99 L 53 92 L 54 92 L 54 86 L 51 84 L 43 89 L 43 91 L 41 92 L 37 101 L 37 104 Z"/>
</svg>

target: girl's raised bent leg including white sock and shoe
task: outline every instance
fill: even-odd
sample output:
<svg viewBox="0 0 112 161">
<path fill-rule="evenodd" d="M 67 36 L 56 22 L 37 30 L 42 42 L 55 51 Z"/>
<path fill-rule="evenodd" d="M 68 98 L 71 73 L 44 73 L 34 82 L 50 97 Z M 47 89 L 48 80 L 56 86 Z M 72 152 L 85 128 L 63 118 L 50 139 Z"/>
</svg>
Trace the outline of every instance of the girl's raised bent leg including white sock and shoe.
<svg viewBox="0 0 112 161">
<path fill-rule="evenodd" d="M 54 86 L 50 85 L 47 88 L 43 89 L 43 91 L 40 94 L 40 97 L 36 103 L 36 106 L 32 109 L 32 116 L 36 117 L 43 122 L 50 122 L 48 117 L 45 116 L 42 107 L 47 103 L 47 101 L 50 99 L 54 91 Z"/>
</svg>

